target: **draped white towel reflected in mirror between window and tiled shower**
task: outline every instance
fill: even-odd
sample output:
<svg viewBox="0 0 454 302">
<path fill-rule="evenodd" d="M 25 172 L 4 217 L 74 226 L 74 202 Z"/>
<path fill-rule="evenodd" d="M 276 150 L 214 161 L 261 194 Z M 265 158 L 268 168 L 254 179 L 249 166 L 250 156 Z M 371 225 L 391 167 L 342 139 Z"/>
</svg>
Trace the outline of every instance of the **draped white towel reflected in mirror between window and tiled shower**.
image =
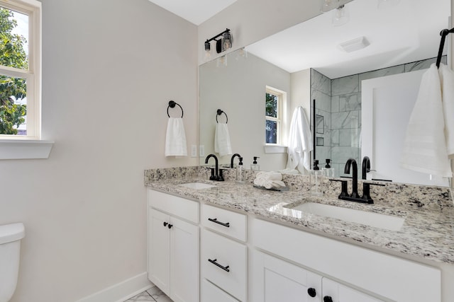
<svg viewBox="0 0 454 302">
<path fill-rule="evenodd" d="M 313 149 L 311 128 L 303 108 L 299 106 L 295 108 L 290 123 L 286 169 L 306 174 L 306 170 L 311 169 L 310 152 Z"/>
</svg>

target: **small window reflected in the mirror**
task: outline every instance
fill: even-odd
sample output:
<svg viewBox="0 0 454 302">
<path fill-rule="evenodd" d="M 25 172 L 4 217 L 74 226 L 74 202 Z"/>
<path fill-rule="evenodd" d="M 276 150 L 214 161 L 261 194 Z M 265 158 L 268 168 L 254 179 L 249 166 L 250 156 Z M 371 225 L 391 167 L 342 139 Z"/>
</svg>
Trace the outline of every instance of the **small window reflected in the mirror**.
<svg viewBox="0 0 454 302">
<path fill-rule="evenodd" d="M 265 93 L 265 143 L 281 144 L 282 103 L 285 93 L 275 88 L 266 88 Z"/>
</svg>

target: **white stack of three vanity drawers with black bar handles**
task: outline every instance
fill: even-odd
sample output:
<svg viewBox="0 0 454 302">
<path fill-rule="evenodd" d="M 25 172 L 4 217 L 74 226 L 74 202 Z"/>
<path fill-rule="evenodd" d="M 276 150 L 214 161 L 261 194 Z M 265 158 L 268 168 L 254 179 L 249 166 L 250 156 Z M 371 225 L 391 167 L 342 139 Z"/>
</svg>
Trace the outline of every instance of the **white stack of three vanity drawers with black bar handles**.
<svg viewBox="0 0 454 302">
<path fill-rule="evenodd" d="M 247 301 L 246 216 L 203 204 L 201 217 L 201 302 Z"/>
</svg>

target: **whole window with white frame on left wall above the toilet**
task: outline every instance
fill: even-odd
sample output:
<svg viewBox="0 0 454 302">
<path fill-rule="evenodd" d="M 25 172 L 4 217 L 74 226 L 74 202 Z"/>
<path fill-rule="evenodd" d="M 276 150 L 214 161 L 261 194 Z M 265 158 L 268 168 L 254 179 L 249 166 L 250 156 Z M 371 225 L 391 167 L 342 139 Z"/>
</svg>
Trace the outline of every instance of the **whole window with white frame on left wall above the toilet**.
<svg viewBox="0 0 454 302">
<path fill-rule="evenodd" d="M 40 8 L 0 0 L 0 139 L 40 139 Z"/>
</svg>

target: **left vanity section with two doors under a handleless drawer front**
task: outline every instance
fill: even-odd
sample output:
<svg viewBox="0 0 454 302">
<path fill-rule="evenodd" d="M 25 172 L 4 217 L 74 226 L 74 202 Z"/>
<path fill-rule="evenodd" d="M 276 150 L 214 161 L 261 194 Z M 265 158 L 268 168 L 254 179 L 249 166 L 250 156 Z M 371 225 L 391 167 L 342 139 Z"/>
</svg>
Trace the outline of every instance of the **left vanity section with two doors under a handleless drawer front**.
<svg viewBox="0 0 454 302">
<path fill-rule="evenodd" d="M 148 279 L 175 302 L 199 302 L 199 226 L 189 222 L 198 211 L 197 202 L 149 191 Z"/>
</svg>

